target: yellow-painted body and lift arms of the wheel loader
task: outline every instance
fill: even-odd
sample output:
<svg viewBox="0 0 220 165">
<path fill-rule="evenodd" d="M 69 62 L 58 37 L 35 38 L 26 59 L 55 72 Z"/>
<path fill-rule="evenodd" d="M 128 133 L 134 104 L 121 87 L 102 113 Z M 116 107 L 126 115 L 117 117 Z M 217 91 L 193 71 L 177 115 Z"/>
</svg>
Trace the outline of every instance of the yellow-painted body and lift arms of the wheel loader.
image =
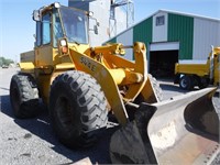
<svg viewBox="0 0 220 165">
<path fill-rule="evenodd" d="M 42 13 L 50 10 L 52 7 L 47 7 Z M 53 26 L 50 30 L 53 32 Z M 51 37 L 54 37 L 52 32 Z M 50 89 L 55 77 L 73 69 L 90 74 L 97 79 L 111 110 L 122 124 L 128 121 L 124 102 L 134 101 L 139 95 L 150 102 L 158 101 L 147 78 L 146 47 L 143 43 L 129 47 L 120 43 L 90 47 L 89 44 L 67 43 L 65 37 L 57 43 L 61 41 L 66 42 L 66 45 L 55 48 L 51 42 L 21 54 L 21 72 L 29 73 L 36 79 L 45 103 L 48 103 Z M 68 51 L 63 53 L 63 48 Z M 125 54 L 125 48 L 133 48 L 134 63 L 119 56 Z M 119 90 L 122 86 L 128 88 L 123 97 Z"/>
</svg>

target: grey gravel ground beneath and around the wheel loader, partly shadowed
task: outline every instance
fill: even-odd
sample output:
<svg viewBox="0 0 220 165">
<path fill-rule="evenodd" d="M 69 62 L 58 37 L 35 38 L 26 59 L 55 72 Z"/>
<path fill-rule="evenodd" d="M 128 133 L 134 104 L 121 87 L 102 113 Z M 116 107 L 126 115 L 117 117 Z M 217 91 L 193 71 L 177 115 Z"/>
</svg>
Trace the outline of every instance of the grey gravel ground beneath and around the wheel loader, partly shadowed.
<svg viewBox="0 0 220 165">
<path fill-rule="evenodd" d="M 0 68 L 0 164 L 72 164 L 85 157 L 99 164 L 110 164 L 109 141 L 117 128 L 108 128 L 100 134 L 100 141 L 91 148 L 69 150 L 55 138 L 50 125 L 47 111 L 34 119 L 19 120 L 12 114 L 9 85 L 10 79 L 18 69 Z M 174 86 L 170 80 L 160 80 L 164 92 L 164 100 L 186 91 Z M 213 97 L 213 103 L 219 110 L 219 90 Z M 42 107 L 42 109 L 44 109 Z M 212 164 L 220 164 L 218 155 Z"/>
</svg>

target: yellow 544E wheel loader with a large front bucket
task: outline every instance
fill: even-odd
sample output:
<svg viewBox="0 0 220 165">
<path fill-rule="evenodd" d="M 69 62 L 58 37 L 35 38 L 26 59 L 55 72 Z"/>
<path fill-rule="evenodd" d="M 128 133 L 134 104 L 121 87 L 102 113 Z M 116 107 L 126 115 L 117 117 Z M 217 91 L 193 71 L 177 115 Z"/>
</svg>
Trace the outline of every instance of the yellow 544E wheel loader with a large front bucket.
<svg viewBox="0 0 220 165">
<path fill-rule="evenodd" d="M 87 147 L 113 113 L 121 129 L 111 138 L 112 163 L 199 164 L 207 154 L 215 157 L 216 89 L 162 101 L 157 81 L 147 74 L 145 45 L 90 47 L 88 16 L 59 3 L 33 12 L 34 51 L 21 54 L 21 72 L 10 85 L 15 117 L 34 117 L 42 99 L 59 141 Z M 134 63 L 121 57 L 127 48 L 133 48 Z"/>
</svg>

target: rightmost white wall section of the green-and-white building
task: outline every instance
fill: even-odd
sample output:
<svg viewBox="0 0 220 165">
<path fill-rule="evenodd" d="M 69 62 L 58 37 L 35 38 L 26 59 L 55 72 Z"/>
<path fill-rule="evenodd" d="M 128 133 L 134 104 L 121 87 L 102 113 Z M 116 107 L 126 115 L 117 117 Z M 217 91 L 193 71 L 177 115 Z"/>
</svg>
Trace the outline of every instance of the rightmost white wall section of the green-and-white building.
<svg viewBox="0 0 220 165">
<path fill-rule="evenodd" d="M 193 45 L 193 58 L 207 59 L 211 45 L 220 45 L 220 22 L 195 18 Z"/>
</svg>

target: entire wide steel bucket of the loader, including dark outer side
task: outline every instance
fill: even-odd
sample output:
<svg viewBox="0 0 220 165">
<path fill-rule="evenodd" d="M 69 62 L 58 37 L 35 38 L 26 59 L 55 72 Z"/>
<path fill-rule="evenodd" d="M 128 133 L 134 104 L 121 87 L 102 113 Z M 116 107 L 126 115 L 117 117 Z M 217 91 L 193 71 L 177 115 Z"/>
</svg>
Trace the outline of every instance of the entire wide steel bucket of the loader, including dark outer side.
<svg viewBox="0 0 220 165">
<path fill-rule="evenodd" d="M 215 88 L 154 105 L 142 103 L 135 120 L 111 138 L 112 163 L 209 164 L 219 153 Z"/>
</svg>

